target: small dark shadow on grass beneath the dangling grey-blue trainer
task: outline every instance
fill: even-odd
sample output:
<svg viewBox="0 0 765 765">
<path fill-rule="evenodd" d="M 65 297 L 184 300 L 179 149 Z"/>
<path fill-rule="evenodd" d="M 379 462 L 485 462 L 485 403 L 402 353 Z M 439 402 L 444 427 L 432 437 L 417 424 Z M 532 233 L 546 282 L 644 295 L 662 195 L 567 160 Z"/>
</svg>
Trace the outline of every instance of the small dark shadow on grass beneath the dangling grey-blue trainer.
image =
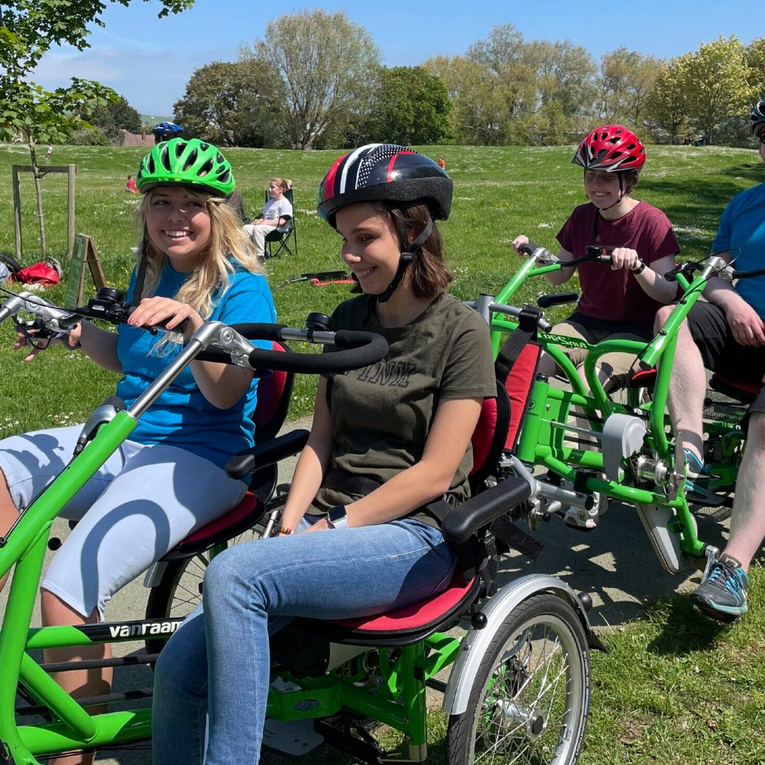
<svg viewBox="0 0 765 765">
<path fill-rule="evenodd" d="M 723 623 L 705 617 L 682 596 L 656 601 L 646 608 L 645 617 L 662 624 L 661 632 L 647 646 L 649 653 L 658 656 L 715 650 L 718 638 L 728 630 Z"/>
</svg>

